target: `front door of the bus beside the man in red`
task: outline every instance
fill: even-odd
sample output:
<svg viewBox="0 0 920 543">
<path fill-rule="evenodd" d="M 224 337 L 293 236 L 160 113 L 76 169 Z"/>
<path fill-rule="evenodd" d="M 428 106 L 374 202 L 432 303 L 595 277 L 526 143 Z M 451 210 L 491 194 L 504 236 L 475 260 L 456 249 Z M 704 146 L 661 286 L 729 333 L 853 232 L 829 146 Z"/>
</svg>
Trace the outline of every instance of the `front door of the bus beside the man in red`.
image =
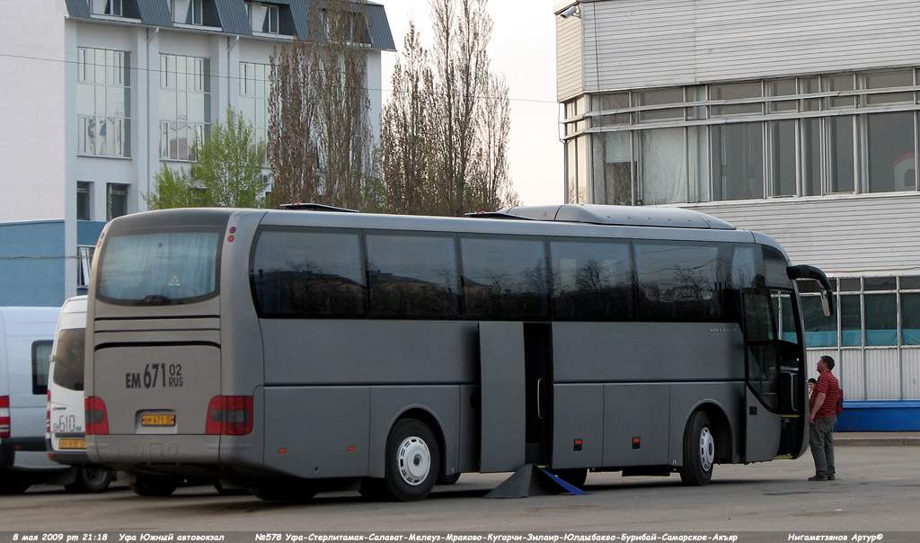
<svg viewBox="0 0 920 543">
<path fill-rule="evenodd" d="M 792 296 L 765 288 L 742 294 L 745 462 L 798 456 L 802 445 L 802 349 Z"/>
</svg>

